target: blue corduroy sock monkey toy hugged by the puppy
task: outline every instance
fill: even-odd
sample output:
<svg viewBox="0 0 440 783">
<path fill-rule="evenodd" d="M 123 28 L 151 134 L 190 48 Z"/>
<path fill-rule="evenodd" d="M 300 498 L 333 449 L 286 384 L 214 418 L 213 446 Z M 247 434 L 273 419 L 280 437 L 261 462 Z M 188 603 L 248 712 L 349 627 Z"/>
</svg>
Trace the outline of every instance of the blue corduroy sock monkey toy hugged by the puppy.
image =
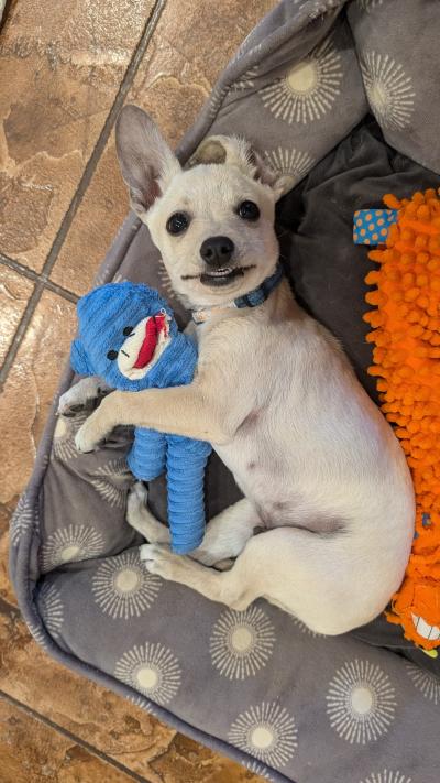
<svg viewBox="0 0 440 783">
<path fill-rule="evenodd" d="M 99 376 L 113 389 L 141 391 L 190 383 L 197 365 L 194 340 L 177 329 L 156 291 L 136 283 L 109 283 L 77 306 L 79 335 L 72 345 L 74 370 Z M 167 474 L 173 551 L 198 546 L 205 532 L 204 476 L 211 446 L 136 427 L 128 465 L 151 481 Z"/>
</svg>

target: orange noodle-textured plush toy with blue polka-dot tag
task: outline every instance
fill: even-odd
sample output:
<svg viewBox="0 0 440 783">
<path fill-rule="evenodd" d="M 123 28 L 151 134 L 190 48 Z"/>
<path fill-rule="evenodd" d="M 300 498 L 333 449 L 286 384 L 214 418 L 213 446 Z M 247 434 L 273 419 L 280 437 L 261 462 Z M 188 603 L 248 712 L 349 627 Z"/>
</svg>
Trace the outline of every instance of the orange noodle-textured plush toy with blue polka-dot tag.
<svg viewBox="0 0 440 783">
<path fill-rule="evenodd" d="M 416 491 L 416 533 L 404 581 L 387 612 L 407 639 L 437 656 L 440 645 L 440 198 L 433 189 L 410 199 L 385 196 L 389 210 L 354 215 L 354 241 L 383 244 L 370 252 L 380 267 L 366 283 L 377 309 L 374 366 L 382 410 L 395 426 Z M 389 217 L 391 216 L 391 217 Z M 386 523 L 386 522 L 385 522 Z"/>
</svg>

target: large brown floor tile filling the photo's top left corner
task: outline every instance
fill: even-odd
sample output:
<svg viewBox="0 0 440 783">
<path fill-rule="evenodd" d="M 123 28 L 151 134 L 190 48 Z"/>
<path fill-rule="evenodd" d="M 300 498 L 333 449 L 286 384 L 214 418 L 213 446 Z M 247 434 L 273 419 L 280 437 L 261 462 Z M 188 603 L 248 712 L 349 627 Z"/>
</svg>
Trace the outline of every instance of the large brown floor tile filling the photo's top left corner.
<svg viewBox="0 0 440 783">
<path fill-rule="evenodd" d="M 153 0 L 20 0 L 0 37 L 0 249 L 41 270 Z"/>
</svg>

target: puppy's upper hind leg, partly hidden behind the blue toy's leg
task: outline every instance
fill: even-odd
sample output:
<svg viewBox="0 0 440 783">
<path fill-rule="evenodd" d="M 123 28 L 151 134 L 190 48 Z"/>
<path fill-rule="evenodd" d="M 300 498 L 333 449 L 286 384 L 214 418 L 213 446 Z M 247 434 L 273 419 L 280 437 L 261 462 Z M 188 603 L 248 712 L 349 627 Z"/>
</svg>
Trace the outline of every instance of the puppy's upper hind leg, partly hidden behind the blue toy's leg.
<svg viewBox="0 0 440 783">
<path fill-rule="evenodd" d="M 146 505 L 147 490 L 138 481 L 129 494 L 127 521 L 152 544 L 168 544 L 169 529 L 158 522 Z M 208 525 L 204 541 L 191 557 L 204 565 L 215 565 L 237 557 L 253 535 L 261 520 L 254 507 L 243 498 L 215 516 Z"/>
</svg>

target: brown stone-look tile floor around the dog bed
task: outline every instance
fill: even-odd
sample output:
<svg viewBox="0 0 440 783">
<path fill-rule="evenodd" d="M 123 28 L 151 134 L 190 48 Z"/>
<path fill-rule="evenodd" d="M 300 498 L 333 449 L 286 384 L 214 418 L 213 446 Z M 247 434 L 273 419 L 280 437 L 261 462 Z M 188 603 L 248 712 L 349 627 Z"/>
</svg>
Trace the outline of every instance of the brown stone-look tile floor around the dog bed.
<svg viewBox="0 0 440 783">
<path fill-rule="evenodd" d="M 8 522 L 89 287 L 128 209 L 124 101 L 174 144 L 275 0 L 12 0 L 0 32 L 2 783 L 258 780 L 50 660 L 8 580 Z M 6 434 L 6 437 L 4 437 Z"/>
</svg>

